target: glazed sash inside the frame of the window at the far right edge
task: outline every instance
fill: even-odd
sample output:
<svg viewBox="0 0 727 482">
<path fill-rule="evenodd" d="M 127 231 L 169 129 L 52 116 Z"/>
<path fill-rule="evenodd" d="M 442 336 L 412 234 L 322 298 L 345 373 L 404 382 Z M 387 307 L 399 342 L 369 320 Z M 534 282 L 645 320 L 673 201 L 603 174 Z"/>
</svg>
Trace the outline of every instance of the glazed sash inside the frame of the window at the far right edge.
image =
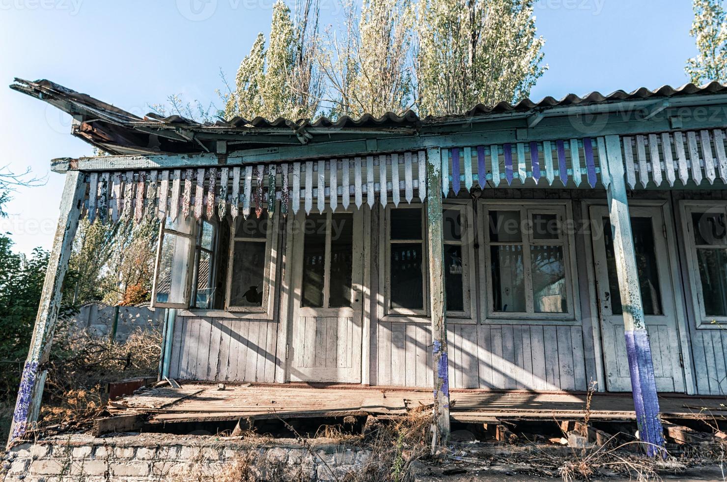
<svg viewBox="0 0 727 482">
<path fill-rule="evenodd" d="M 698 321 L 727 321 L 727 205 L 688 203 L 684 213 Z"/>
</svg>

